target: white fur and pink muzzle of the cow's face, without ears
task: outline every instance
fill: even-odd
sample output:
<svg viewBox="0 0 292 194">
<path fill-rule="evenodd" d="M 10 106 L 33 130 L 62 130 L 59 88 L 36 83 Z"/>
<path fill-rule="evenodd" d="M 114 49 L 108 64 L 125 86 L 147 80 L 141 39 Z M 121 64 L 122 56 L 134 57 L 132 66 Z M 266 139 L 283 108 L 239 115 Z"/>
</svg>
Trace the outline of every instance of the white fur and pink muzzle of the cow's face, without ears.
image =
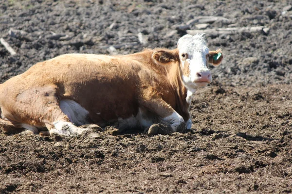
<svg viewBox="0 0 292 194">
<path fill-rule="evenodd" d="M 183 75 L 183 83 L 188 90 L 195 90 L 206 86 L 212 81 L 210 70 L 207 68 L 206 55 L 209 49 L 204 40 L 204 34 L 184 35 L 178 41 L 178 49 L 181 57 L 181 64 L 189 64 L 189 75 Z M 182 54 L 187 54 L 188 58 L 183 61 Z M 194 93 L 194 92 L 193 92 Z"/>
</svg>

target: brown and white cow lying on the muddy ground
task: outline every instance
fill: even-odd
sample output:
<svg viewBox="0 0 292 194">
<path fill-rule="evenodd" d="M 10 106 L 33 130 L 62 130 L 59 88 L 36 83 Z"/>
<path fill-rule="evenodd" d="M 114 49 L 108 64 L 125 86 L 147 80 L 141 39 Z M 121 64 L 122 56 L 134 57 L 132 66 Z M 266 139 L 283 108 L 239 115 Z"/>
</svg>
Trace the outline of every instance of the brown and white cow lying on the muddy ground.
<svg viewBox="0 0 292 194">
<path fill-rule="evenodd" d="M 170 132 L 191 129 L 191 96 L 212 81 L 207 63 L 222 58 L 203 34 L 184 35 L 174 50 L 61 55 L 0 84 L 0 127 L 64 136 L 86 134 L 90 127 L 78 127 L 86 124 L 148 134 L 164 133 L 158 123 Z"/>
</svg>

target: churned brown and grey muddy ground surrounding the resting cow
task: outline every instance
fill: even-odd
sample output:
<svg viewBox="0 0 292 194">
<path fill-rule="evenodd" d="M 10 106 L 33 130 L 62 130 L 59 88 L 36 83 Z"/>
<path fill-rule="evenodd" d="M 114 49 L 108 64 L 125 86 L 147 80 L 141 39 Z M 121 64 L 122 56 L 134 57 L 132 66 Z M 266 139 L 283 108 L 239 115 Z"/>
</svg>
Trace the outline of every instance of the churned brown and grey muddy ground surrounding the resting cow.
<svg viewBox="0 0 292 194">
<path fill-rule="evenodd" d="M 149 137 L 108 129 L 93 140 L 0 133 L 0 193 L 292 193 L 291 5 L 0 0 L 0 37 L 17 52 L 0 45 L 1 82 L 64 53 L 175 48 L 198 28 L 189 22 L 195 16 L 228 19 L 207 29 L 265 27 L 206 31 L 208 47 L 222 48 L 224 61 L 210 67 L 213 83 L 193 97 L 191 131 Z"/>
</svg>

